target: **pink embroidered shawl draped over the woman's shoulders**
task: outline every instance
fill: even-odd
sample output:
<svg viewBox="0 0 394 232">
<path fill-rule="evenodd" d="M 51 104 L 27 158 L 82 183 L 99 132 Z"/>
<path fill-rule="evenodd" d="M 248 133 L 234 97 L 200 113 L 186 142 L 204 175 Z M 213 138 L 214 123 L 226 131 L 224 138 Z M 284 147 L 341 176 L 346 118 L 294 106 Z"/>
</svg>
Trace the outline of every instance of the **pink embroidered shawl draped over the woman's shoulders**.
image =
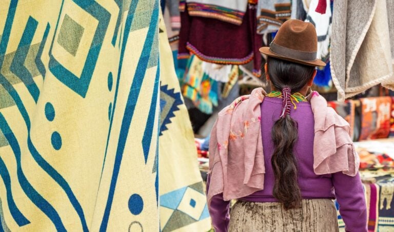
<svg viewBox="0 0 394 232">
<path fill-rule="evenodd" d="M 208 204 L 223 193 L 228 201 L 264 188 L 264 154 L 260 130 L 260 104 L 266 95 L 257 88 L 224 108 L 209 142 L 210 184 Z M 309 95 L 314 115 L 313 170 L 317 175 L 343 172 L 355 176 L 359 156 L 350 139 L 350 126 L 317 92 Z"/>
</svg>

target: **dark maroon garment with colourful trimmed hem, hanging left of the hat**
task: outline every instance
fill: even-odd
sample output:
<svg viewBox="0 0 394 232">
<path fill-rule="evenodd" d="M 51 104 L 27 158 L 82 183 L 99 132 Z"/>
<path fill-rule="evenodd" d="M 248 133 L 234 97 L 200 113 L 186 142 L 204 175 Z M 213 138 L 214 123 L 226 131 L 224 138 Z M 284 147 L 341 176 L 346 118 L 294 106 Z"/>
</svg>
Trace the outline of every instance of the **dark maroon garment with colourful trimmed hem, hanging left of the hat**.
<svg viewBox="0 0 394 232">
<path fill-rule="evenodd" d="M 188 7 L 181 12 L 178 58 L 195 54 L 201 60 L 222 65 L 242 65 L 253 60 L 260 75 L 262 36 L 256 32 L 256 5 L 248 4 L 240 26 L 206 17 L 192 17 Z"/>
</svg>

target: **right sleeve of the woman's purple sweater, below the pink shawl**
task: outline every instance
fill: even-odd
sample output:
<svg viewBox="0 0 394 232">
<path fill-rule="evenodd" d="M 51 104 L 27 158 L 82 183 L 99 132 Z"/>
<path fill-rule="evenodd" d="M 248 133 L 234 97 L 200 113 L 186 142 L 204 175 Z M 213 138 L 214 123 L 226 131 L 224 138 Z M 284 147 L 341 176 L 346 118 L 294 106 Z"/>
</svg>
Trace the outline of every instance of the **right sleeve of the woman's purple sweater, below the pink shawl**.
<svg viewBox="0 0 394 232">
<path fill-rule="evenodd" d="M 332 174 L 339 212 L 346 231 L 367 231 L 367 206 L 360 174 L 351 177 L 342 172 Z"/>
</svg>

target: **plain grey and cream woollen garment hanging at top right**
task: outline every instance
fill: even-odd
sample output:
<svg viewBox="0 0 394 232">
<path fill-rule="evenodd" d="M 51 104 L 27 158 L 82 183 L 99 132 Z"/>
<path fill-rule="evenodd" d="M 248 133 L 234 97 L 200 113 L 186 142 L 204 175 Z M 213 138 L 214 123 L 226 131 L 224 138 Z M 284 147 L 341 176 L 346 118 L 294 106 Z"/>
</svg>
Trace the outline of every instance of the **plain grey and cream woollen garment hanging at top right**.
<svg viewBox="0 0 394 232">
<path fill-rule="evenodd" d="M 391 1 L 388 1 L 391 2 Z M 394 75 L 390 54 L 385 0 L 334 1 L 331 33 L 331 75 L 338 100 L 383 83 L 392 88 Z"/>
</svg>

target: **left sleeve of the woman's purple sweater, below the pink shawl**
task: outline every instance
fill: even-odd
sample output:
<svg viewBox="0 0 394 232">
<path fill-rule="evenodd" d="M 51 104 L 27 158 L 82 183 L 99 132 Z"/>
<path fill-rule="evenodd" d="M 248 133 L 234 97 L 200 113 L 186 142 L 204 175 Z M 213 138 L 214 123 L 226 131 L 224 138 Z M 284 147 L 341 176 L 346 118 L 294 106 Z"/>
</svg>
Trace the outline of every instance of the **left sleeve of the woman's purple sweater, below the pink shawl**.
<svg viewBox="0 0 394 232">
<path fill-rule="evenodd" d="M 207 193 L 209 190 L 210 175 L 207 177 Z M 211 215 L 212 225 L 215 232 L 227 232 L 230 222 L 230 201 L 223 200 L 223 194 L 218 194 L 212 197 L 211 203 L 208 206 L 209 214 Z"/>
</svg>

